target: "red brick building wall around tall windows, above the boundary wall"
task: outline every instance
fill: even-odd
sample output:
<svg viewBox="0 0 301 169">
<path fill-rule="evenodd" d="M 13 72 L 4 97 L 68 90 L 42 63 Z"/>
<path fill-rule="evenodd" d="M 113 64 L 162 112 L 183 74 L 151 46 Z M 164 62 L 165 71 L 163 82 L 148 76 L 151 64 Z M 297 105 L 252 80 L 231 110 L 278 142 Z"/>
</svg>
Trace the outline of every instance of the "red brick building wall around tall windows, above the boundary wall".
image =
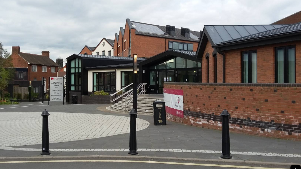
<svg viewBox="0 0 301 169">
<path fill-rule="evenodd" d="M 296 45 L 296 83 L 301 83 L 301 41 L 289 43 L 264 45 L 252 48 L 241 48 L 224 51 L 225 58 L 225 82 L 241 83 L 241 52 L 257 50 L 257 82 L 275 83 L 275 48 L 281 46 Z M 202 82 L 206 82 L 206 53 L 209 53 L 209 82 L 214 82 L 214 66 L 210 42 L 208 41 L 202 58 Z M 222 55 L 218 54 L 218 82 L 222 82 Z"/>
</svg>

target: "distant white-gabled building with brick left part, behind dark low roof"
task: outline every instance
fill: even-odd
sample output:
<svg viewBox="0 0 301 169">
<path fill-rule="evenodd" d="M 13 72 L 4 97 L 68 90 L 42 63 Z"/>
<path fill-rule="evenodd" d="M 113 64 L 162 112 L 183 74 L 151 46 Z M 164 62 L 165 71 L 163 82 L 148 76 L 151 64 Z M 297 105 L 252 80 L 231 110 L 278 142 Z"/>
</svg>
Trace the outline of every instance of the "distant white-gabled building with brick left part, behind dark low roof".
<svg viewBox="0 0 301 169">
<path fill-rule="evenodd" d="M 114 40 L 102 38 L 96 47 L 85 46 L 79 54 L 112 56 Z"/>
</svg>

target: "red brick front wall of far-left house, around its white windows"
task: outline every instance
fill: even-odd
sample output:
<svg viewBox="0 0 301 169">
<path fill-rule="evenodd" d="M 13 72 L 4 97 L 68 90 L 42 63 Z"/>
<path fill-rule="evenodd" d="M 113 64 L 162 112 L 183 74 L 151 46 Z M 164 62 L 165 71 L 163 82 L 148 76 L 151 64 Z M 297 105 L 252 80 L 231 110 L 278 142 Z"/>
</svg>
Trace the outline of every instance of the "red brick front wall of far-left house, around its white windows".
<svg viewBox="0 0 301 169">
<path fill-rule="evenodd" d="M 41 56 L 42 57 L 42 56 Z M 33 81 L 33 78 L 37 78 L 37 81 L 42 80 L 42 77 L 46 78 L 46 89 L 48 89 L 48 79 L 49 77 L 57 77 L 58 67 L 55 67 L 55 73 L 51 73 L 51 66 L 47 66 L 47 72 L 42 72 L 42 66 L 37 65 L 37 71 L 31 71 L 31 64 L 28 65 L 28 80 Z"/>
</svg>

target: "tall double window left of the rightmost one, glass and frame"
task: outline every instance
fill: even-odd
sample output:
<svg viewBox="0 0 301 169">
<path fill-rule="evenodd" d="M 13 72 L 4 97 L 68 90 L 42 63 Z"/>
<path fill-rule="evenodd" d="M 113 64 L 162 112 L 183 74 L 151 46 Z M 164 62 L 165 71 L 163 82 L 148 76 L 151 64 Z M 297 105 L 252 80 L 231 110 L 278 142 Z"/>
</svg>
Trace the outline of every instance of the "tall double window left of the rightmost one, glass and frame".
<svg viewBox="0 0 301 169">
<path fill-rule="evenodd" d="M 257 83 L 257 51 L 242 52 L 241 82 Z"/>
</svg>

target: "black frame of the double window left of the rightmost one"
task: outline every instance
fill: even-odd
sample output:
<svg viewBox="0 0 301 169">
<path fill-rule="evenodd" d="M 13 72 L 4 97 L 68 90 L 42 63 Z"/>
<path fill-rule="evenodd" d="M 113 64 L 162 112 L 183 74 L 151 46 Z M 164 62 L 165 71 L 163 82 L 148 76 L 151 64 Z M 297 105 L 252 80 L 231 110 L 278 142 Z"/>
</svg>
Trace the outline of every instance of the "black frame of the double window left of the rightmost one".
<svg viewBox="0 0 301 169">
<path fill-rule="evenodd" d="M 252 53 L 256 53 L 256 82 L 252 81 Z M 257 83 L 258 71 L 257 71 L 257 50 L 243 51 L 241 52 L 241 83 L 244 82 L 244 54 L 248 54 L 248 83 Z"/>
</svg>

